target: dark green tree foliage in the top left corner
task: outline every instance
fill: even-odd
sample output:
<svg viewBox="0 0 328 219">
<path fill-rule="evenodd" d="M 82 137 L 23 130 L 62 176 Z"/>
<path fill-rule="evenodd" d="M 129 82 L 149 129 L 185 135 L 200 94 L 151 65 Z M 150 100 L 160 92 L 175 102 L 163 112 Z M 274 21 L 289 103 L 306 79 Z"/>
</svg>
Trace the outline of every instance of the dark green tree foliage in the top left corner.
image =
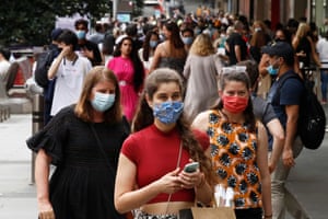
<svg viewBox="0 0 328 219">
<path fill-rule="evenodd" d="M 0 45 L 42 46 L 48 44 L 56 15 L 102 18 L 109 10 L 108 0 L 2 0 L 0 7 Z"/>
</svg>

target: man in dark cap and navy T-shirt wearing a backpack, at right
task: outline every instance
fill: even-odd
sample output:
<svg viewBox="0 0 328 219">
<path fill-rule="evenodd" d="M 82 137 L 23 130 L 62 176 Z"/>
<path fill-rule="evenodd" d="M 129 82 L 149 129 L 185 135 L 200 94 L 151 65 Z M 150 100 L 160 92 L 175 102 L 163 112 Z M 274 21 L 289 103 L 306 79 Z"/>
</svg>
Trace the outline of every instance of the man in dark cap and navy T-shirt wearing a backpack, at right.
<svg viewBox="0 0 328 219">
<path fill-rule="evenodd" d="M 284 77 L 295 73 L 293 69 L 294 50 L 290 44 L 277 42 L 265 46 L 262 53 L 270 56 L 268 69 L 272 71 L 271 73 L 277 74 L 269 91 L 268 101 L 272 104 L 285 132 L 282 159 L 271 175 L 273 218 L 284 219 L 285 209 L 294 218 L 309 218 L 297 199 L 285 187 L 290 170 L 295 165 L 294 159 L 303 149 L 297 136 L 297 118 L 305 88 L 296 78 L 288 78 L 283 84 L 280 84 L 280 80 L 283 80 Z"/>
</svg>

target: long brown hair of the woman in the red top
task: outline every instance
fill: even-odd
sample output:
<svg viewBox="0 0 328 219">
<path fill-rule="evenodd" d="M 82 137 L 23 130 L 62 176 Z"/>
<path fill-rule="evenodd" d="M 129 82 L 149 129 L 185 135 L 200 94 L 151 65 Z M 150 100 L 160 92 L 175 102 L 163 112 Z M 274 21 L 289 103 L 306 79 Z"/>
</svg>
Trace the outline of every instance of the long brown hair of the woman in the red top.
<svg viewBox="0 0 328 219">
<path fill-rule="evenodd" d="M 169 82 L 174 82 L 179 85 L 183 96 L 183 81 L 180 76 L 175 70 L 168 68 L 159 68 L 148 76 L 145 79 L 144 92 L 140 99 L 139 108 L 133 120 L 133 132 L 139 131 L 154 123 L 153 111 L 148 105 L 145 96 L 148 95 L 148 97 L 152 100 L 160 84 Z M 195 135 L 190 129 L 190 123 L 185 118 L 184 114 L 181 114 L 178 118 L 176 128 L 181 138 L 183 148 L 189 152 L 192 160 L 200 162 L 201 170 L 206 173 L 209 182 L 214 183 L 215 177 L 213 177 L 211 161 L 204 155 L 202 148 L 196 140 Z"/>
</svg>

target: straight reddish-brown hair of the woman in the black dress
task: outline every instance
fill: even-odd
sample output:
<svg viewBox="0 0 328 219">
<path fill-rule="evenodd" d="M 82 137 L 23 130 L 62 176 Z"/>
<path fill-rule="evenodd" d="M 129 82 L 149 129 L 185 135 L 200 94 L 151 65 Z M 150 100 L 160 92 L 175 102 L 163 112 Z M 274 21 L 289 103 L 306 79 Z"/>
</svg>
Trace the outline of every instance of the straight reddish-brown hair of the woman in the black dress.
<svg viewBox="0 0 328 219">
<path fill-rule="evenodd" d="M 105 122 L 110 124 L 119 123 L 121 120 L 122 113 L 118 81 L 114 72 L 103 66 L 93 67 L 86 74 L 83 83 L 83 90 L 79 102 L 75 105 L 74 112 L 79 118 L 85 122 L 93 122 L 92 112 L 94 110 L 91 105 L 90 97 L 92 89 L 101 81 L 110 81 L 115 84 L 115 102 L 110 108 L 104 112 Z"/>
</svg>

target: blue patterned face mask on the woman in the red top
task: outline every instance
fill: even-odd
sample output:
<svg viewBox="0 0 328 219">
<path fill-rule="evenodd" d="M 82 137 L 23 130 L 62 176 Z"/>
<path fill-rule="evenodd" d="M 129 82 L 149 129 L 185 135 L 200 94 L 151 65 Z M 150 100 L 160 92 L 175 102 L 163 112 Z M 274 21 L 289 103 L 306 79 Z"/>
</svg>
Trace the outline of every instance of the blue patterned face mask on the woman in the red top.
<svg viewBox="0 0 328 219">
<path fill-rule="evenodd" d="M 180 101 L 164 102 L 154 105 L 153 115 L 163 124 L 176 123 L 184 111 L 184 103 Z"/>
</svg>

